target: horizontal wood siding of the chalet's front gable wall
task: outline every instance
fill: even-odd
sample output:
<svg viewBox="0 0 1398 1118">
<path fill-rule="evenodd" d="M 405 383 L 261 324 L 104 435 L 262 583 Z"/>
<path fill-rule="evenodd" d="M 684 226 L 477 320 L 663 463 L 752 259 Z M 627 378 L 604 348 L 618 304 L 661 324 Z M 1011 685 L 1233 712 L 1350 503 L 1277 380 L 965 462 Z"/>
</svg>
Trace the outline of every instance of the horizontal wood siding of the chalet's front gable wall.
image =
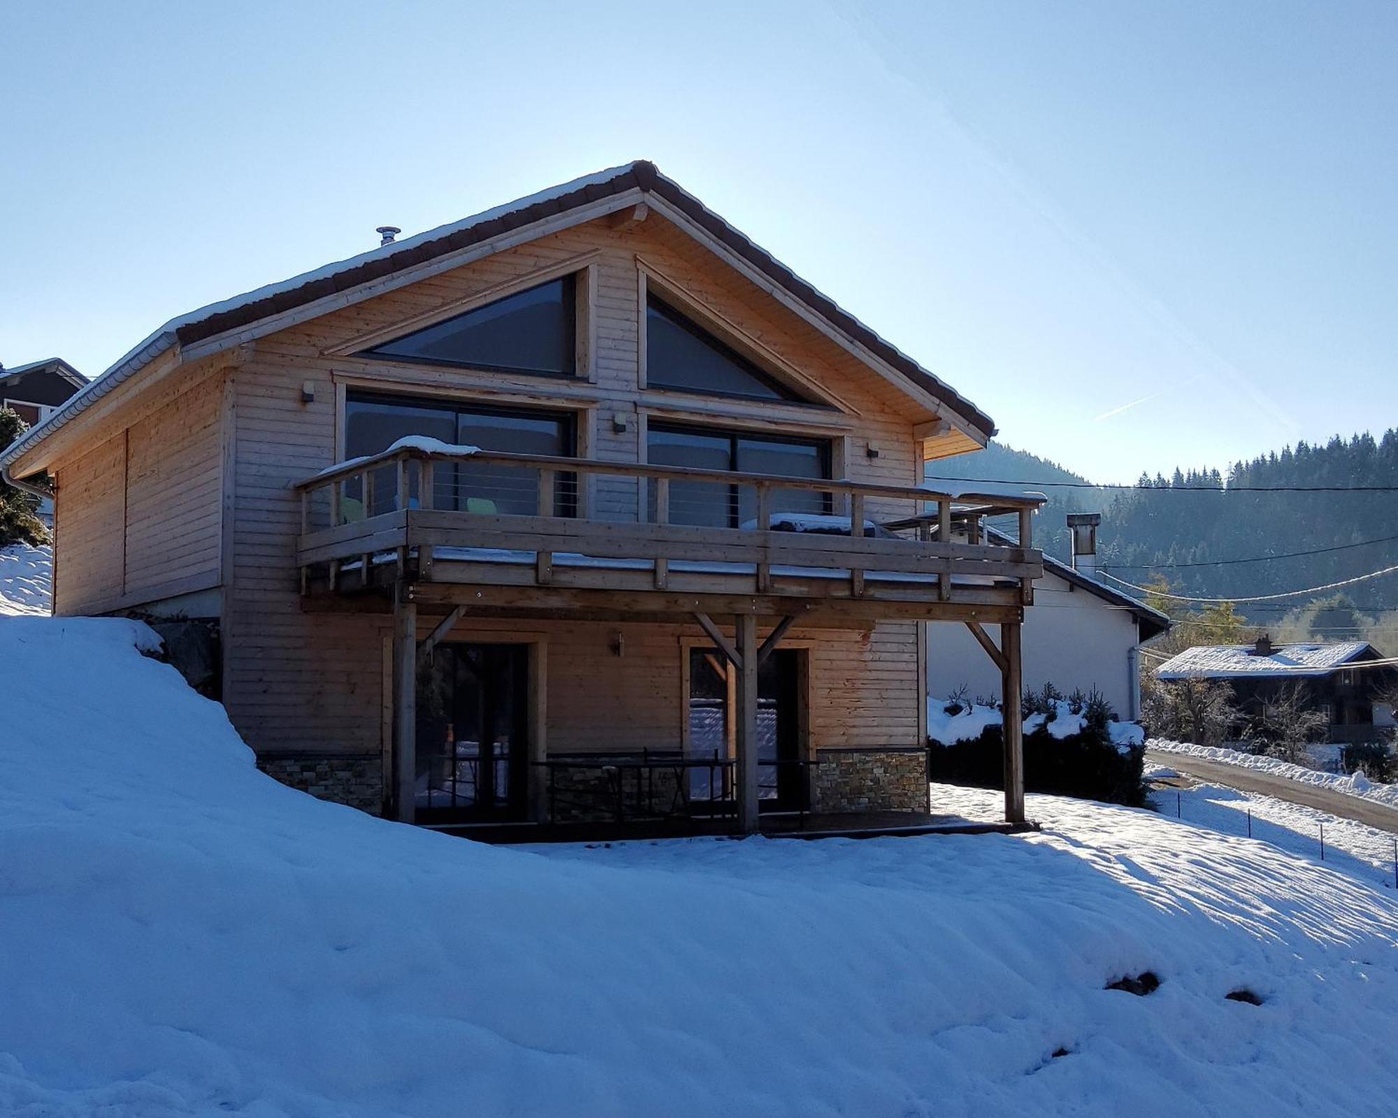
<svg viewBox="0 0 1398 1118">
<path fill-rule="evenodd" d="M 825 411 L 707 400 L 639 386 L 639 266 L 738 326 L 781 362 L 828 386 L 846 405 Z M 570 380 L 397 365 L 327 355 L 372 331 L 475 293 L 576 261 L 589 275 L 596 340 L 591 377 Z M 354 348 L 359 348 L 355 345 Z M 340 454 L 347 387 L 454 394 L 482 402 L 573 408 L 580 451 L 643 457 L 650 416 L 763 430 L 826 433 L 836 470 L 857 481 L 906 485 L 918 456 L 910 401 L 829 338 L 733 273 L 682 232 L 651 217 L 621 232 L 590 222 L 377 296 L 256 342 L 233 373 L 236 444 L 231 584 L 225 590 L 225 703 L 259 750 L 373 752 L 380 748 L 383 639 L 375 615 L 301 612 L 294 549 L 299 506 L 289 485 Z M 303 402 L 303 387 L 313 394 Z M 870 457 L 867 449 L 878 451 Z M 637 488 L 598 486 L 591 514 L 633 520 Z M 871 513 L 877 513 L 871 507 Z M 460 632 L 531 632 L 548 639 L 549 749 L 672 748 L 678 743 L 679 634 L 698 627 L 624 626 L 626 655 L 608 651 L 617 626 L 475 623 Z M 872 633 L 816 630 L 812 738 L 816 746 L 918 741 L 914 623 Z"/>
</svg>

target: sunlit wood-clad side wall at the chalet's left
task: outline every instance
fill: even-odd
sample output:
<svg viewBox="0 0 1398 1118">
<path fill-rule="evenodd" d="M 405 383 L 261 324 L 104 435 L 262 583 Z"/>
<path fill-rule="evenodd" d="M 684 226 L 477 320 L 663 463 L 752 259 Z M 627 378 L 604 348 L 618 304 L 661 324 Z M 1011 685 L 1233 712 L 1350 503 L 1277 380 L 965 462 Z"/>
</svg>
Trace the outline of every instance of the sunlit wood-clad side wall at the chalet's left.
<svg viewBox="0 0 1398 1118">
<path fill-rule="evenodd" d="M 206 376 L 56 471 L 56 614 L 218 584 L 221 398 Z"/>
</svg>

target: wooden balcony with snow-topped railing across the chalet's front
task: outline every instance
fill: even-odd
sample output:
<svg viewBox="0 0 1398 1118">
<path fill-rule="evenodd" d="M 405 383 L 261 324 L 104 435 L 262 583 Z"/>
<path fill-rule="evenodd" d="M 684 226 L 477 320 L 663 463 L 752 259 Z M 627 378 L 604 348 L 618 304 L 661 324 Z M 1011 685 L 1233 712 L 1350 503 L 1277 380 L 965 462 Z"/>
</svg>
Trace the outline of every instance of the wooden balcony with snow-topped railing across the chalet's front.
<svg viewBox="0 0 1398 1118">
<path fill-rule="evenodd" d="M 1037 551 L 981 542 L 991 516 L 1028 538 L 1035 498 L 419 446 L 295 488 L 308 608 L 400 587 L 506 616 L 997 623 L 1043 573 Z"/>
</svg>

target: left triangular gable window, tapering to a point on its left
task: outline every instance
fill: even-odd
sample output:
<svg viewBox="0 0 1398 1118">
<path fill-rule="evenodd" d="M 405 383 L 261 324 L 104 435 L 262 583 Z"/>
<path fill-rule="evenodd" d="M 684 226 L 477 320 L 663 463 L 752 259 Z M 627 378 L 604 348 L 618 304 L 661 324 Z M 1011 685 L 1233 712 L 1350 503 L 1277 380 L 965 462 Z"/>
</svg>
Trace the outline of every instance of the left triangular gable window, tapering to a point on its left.
<svg viewBox="0 0 1398 1118">
<path fill-rule="evenodd" d="M 565 275 L 375 345 L 359 356 L 572 376 L 577 352 L 575 307 L 573 277 Z"/>
</svg>

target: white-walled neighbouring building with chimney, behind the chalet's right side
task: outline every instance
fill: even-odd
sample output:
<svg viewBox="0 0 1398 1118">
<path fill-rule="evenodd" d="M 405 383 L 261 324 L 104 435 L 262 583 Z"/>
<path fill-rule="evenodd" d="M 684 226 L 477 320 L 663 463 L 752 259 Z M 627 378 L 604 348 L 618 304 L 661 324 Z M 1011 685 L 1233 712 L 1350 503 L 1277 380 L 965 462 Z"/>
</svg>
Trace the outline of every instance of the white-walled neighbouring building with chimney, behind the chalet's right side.
<svg viewBox="0 0 1398 1118">
<path fill-rule="evenodd" d="M 1069 517 L 1074 524 L 1078 517 Z M 1095 528 L 1095 523 L 1074 524 Z M 1089 577 L 1095 569 L 1093 531 L 1075 531 L 1078 569 L 1044 555 L 1044 577 L 1035 583 L 1035 604 L 1025 609 L 1025 688 L 1053 683 L 1064 693 L 1096 688 L 1125 720 L 1141 714 L 1142 641 L 1170 627 L 1170 619 L 1135 598 Z M 991 534 L 993 544 L 1014 544 Z M 1090 551 L 1089 551 L 1090 548 Z M 969 697 L 1000 699 L 1000 669 L 965 626 L 927 626 L 927 693 L 951 695 L 962 685 Z M 998 641 L 998 626 L 986 630 Z"/>
</svg>

